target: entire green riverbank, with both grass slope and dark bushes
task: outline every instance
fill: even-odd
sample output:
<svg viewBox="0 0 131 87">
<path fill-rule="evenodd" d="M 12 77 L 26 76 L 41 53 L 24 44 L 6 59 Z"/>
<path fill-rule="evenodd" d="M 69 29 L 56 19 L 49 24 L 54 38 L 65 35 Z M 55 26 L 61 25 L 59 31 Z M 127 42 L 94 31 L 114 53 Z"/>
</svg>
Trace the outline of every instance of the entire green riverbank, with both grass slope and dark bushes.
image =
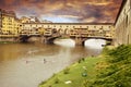
<svg viewBox="0 0 131 87">
<path fill-rule="evenodd" d="M 99 57 L 80 60 L 39 87 L 131 87 L 130 55 L 131 46 L 104 48 Z"/>
</svg>

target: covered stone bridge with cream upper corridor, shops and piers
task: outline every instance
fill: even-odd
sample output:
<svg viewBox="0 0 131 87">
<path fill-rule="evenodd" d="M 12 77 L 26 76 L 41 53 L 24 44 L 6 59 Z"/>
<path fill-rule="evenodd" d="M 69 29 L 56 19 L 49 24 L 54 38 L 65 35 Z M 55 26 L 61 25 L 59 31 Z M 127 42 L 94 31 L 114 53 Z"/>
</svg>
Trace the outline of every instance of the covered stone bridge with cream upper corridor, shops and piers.
<svg viewBox="0 0 131 87">
<path fill-rule="evenodd" d="M 45 42 L 52 42 L 58 37 L 69 37 L 76 45 L 83 45 L 86 39 L 99 38 L 112 40 L 115 28 L 112 23 L 23 23 L 22 35 L 45 36 Z"/>
</svg>

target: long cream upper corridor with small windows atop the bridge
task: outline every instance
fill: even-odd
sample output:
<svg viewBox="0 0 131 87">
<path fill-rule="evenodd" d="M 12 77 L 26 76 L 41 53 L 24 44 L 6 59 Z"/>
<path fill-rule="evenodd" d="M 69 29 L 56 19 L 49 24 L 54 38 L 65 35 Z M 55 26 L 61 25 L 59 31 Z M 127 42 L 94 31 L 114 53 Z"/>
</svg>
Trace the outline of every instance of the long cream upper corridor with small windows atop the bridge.
<svg viewBox="0 0 131 87">
<path fill-rule="evenodd" d="M 68 35 L 71 30 L 79 28 L 91 33 L 102 33 L 103 30 L 109 37 L 114 37 L 115 35 L 114 24 L 111 23 L 23 23 L 23 29 L 32 30 L 36 28 L 56 28 L 62 35 Z"/>
</svg>

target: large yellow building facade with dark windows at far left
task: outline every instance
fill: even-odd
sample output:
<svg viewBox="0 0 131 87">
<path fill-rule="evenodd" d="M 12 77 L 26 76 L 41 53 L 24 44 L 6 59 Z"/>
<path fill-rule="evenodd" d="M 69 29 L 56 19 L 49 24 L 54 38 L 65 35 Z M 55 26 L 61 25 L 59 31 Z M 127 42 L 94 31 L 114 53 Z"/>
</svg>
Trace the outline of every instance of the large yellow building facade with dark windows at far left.
<svg viewBox="0 0 131 87">
<path fill-rule="evenodd" d="M 12 11 L 1 10 L 1 34 L 2 35 L 17 35 L 22 23 L 16 18 Z"/>
</svg>

